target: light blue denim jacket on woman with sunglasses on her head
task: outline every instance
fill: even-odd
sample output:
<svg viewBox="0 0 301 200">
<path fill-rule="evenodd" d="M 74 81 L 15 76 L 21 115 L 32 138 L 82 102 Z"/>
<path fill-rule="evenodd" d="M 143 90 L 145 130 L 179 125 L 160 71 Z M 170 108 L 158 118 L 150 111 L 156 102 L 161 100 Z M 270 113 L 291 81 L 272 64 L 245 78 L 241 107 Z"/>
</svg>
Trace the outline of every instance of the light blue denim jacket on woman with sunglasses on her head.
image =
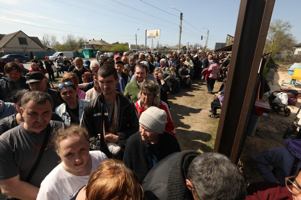
<svg viewBox="0 0 301 200">
<path fill-rule="evenodd" d="M 77 98 L 77 102 L 78 102 L 78 111 L 79 111 L 79 121 L 81 121 L 84 105 L 86 103 L 88 103 L 88 101 Z M 58 114 L 63 119 L 63 121 L 65 122 L 66 125 L 70 125 L 71 116 L 67 112 L 67 104 L 66 103 L 62 103 L 61 105 L 56 107 L 55 113 Z"/>
</svg>

